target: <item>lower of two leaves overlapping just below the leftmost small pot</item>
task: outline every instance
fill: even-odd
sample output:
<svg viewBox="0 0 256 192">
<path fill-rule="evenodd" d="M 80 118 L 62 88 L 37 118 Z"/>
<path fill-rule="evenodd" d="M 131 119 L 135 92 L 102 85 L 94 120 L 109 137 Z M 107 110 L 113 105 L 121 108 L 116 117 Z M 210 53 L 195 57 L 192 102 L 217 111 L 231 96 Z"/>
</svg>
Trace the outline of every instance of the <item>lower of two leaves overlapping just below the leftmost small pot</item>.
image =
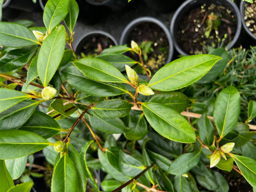
<svg viewBox="0 0 256 192">
<path fill-rule="evenodd" d="M 132 67 L 137 63 L 136 61 L 122 54 L 100 54 L 96 58 L 111 63 L 121 72 L 125 71 L 125 65 Z"/>
</svg>

